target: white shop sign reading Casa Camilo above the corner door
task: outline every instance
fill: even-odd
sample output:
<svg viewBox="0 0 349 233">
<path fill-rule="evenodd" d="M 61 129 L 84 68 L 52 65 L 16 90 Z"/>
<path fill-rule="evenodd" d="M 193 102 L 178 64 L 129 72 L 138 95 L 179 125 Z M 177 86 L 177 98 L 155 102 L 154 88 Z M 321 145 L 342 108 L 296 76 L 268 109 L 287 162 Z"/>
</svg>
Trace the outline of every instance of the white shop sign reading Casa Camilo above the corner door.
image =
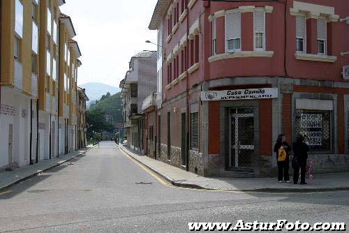
<svg viewBox="0 0 349 233">
<path fill-rule="evenodd" d="M 260 88 L 260 89 L 238 89 L 225 91 L 202 91 L 201 100 L 254 100 L 265 98 L 278 98 L 279 89 Z"/>
</svg>

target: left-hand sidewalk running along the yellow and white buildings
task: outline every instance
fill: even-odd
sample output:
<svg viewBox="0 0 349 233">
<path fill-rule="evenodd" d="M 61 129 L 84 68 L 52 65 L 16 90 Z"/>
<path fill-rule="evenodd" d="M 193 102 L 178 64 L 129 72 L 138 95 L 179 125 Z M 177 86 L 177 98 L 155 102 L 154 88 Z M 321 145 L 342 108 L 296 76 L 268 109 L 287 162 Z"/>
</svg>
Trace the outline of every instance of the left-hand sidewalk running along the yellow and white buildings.
<svg viewBox="0 0 349 233">
<path fill-rule="evenodd" d="M 80 151 L 74 151 L 59 158 L 41 160 L 39 163 L 18 168 L 13 172 L 0 172 L 0 191 L 9 188 L 15 183 L 20 183 L 21 181 L 29 179 L 33 176 L 37 176 L 42 172 L 50 170 L 52 167 L 58 167 L 59 165 L 66 163 L 83 153 L 86 153 L 92 147 L 93 146 L 87 146 L 87 149 L 80 149 Z"/>
</svg>

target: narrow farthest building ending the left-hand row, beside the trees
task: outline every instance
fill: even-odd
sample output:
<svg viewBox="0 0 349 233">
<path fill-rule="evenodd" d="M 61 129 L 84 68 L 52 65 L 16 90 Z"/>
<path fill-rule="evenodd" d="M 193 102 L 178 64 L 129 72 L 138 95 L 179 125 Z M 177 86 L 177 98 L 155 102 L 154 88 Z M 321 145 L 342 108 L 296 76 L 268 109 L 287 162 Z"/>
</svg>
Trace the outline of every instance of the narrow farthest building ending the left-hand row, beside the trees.
<svg viewBox="0 0 349 233">
<path fill-rule="evenodd" d="M 77 97 L 77 149 L 81 149 L 87 146 L 86 102 L 89 98 L 81 87 L 77 87 Z"/>
</svg>

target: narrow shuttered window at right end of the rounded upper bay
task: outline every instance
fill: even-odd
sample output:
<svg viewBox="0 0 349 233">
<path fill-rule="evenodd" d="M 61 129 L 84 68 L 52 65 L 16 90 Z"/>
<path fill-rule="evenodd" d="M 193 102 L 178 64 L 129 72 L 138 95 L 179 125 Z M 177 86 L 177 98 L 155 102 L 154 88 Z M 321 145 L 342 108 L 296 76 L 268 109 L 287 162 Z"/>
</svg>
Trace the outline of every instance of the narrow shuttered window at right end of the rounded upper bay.
<svg viewBox="0 0 349 233">
<path fill-rule="evenodd" d="M 255 50 L 265 51 L 265 12 L 257 8 L 254 12 Z"/>
</svg>

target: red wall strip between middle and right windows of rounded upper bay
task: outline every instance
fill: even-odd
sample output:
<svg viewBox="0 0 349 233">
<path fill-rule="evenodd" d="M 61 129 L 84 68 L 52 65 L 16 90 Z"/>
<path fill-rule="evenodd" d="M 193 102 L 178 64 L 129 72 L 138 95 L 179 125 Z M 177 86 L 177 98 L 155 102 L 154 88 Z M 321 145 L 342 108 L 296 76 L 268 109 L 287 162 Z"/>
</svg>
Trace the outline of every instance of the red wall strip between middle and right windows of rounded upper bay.
<svg viewBox="0 0 349 233">
<path fill-rule="evenodd" d="M 253 51 L 253 13 L 241 14 L 242 51 Z"/>
</svg>

